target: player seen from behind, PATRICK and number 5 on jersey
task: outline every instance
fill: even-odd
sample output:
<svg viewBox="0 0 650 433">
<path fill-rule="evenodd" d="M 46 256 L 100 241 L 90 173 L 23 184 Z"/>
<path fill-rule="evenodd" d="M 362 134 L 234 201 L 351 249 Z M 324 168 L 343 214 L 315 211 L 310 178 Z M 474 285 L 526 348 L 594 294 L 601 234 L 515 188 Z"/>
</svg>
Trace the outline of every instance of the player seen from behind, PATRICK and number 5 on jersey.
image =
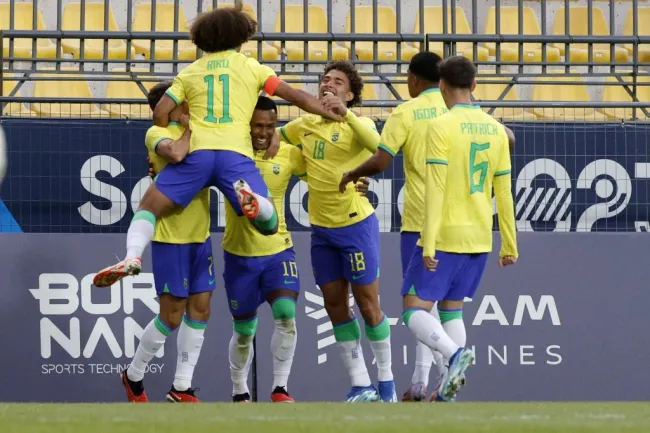
<svg viewBox="0 0 650 433">
<path fill-rule="evenodd" d="M 518 257 L 508 132 L 472 105 L 475 77 L 476 66 L 465 57 L 440 64 L 440 91 L 450 111 L 427 127 L 424 226 L 402 285 L 404 323 L 449 362 L 440 391 L 445 401 L 455 398 L 474 354 L 430 311 L 440 302 L 450 315 L 460 316 L 465 297 L 476 293 L 492 251 L 493 186 L 499 264 L 514 264 Z"/>
</svg>

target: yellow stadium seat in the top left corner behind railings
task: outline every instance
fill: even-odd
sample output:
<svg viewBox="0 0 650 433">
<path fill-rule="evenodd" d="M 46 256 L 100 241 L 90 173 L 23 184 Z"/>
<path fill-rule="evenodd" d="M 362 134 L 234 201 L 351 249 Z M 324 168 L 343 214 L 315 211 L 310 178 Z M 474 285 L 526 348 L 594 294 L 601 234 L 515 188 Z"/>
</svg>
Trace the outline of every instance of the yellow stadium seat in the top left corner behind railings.
<svg viewBox="0 0 650 433">
<path fill-rule="evenodd" d="M 34 6 L 32 3 L 14 3 L 14 30 L 34 30 Z M 0 30 L 9 30 L 9 3 L 0 3 Z M 36 11 L 36 30 L 46 30 L 45 20 L 40 10 Z M 2 55 L 9 56 L 10 39 L 4 38 Z M 14 39 L 14 57 L 33 57 L 31 39 Z M 56 45 L 49 39 L 36 41 L 36 56 L 53 59 L 56 57 Z"/>
</svg>

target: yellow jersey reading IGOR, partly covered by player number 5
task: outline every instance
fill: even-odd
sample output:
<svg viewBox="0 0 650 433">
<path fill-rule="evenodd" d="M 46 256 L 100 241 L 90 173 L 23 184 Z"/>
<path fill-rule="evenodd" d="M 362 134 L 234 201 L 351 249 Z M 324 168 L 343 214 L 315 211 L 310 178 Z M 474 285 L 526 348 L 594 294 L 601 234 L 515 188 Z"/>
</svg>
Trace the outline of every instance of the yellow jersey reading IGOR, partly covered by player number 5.
<svg viewBox="0 0 650 433">
<path fill-rule="evenodd" d="M 397 155 L 404 151 L 404 211 L 402 229 L 420 232 L 424 224 L 424 182 L 426 173 L 426 125 L 449 111 L 440 89 L 432 88 L 393 110 L 381 132 L 379 147 Z"/>
</svg>

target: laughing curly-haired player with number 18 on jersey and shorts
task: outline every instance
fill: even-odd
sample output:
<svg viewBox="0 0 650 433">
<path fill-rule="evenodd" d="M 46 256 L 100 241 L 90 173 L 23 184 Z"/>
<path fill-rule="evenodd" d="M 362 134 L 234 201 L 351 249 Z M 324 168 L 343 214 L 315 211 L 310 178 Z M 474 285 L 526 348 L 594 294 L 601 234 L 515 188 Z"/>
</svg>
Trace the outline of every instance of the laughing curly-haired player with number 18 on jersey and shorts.
<svg viewBox="0 0 650 433">
<path fill-rule="evenodd" d="M 307 162 L 311 262 L 352 382 L 346 399 L 396 401 L 390 325 L 379 305 L 379 224 L 372 204 L 355 193 L 354 185 L 339 191 L 343 173 L 365 161 L 379 144 L 374 122 L 350 109 L 361 102 L 362 89 L 363 80 L 351 62 L 331 62 L 319 93 L 324 105 L 345 121 L 307 115 L 280 131 L 287 142 L 301 147 Z M 378 388 L 363 358 L 359 322 L 348 307 L 350 284 L 377 358 Z"/>
</svg>

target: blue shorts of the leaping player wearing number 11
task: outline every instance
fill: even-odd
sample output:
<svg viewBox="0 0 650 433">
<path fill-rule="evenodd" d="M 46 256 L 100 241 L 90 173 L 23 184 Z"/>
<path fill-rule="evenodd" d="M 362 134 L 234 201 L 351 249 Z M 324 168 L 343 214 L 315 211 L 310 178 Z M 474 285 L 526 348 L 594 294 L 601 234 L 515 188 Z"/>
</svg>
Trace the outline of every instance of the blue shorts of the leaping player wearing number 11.
<svg viewBox="0 0 650 433">
<path fill-rule="evenodd" d="M 253 192 L 268 197 L 255 161 L 230 150 L 195 150 L 178 164 L 167 164 L 156 178 L 156 187 L 174 203 L 186 207 L 203 188 L 215 186 L 230 202 L 237 215 L 241 205 L 233 184 L 244 179 Z"/>
</svg>

